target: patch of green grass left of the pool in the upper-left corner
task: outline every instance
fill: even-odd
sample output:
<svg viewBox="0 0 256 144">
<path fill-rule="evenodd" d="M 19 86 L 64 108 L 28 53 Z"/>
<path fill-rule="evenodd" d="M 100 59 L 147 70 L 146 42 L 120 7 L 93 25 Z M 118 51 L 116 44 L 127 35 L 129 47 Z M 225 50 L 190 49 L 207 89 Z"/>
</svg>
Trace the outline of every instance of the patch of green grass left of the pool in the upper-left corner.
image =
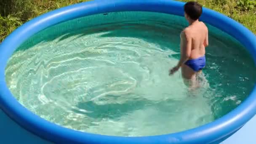
<svg viewBox="0 0 256 144">
<path fill-rule="evenodd" d="M 13 30 L 43 13 L 88 0 L 0 0 L 0 43 Z"/>
</svg>

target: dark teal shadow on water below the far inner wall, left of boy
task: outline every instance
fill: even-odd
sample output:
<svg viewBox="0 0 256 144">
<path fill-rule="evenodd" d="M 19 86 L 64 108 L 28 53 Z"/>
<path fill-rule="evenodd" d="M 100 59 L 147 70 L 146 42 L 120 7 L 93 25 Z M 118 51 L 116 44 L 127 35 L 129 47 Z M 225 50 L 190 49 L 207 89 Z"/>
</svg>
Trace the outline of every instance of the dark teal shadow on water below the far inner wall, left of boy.
<svg viewBox="0 0 256 144">
<path fill-rule="evenodd" d="M 76 40 L 81 37 L 84 37 L 85 35 L 106 32 L 106 34 L 103 34 L 100 37 L 138 38 L 148 43 L 157 44 L 163 50 L 167 50 L 168 48 L 170 48 L 176 53 L 179 53 L 179 44 L 177 44 L 179 43 L 179 35 L 177 35 L 177 33 L 180 31 L 181 29 L 175 29 L 171 27 L 166 29 L 166 27 L 155 27 L 148 24 L 136 24 L 132 22 L 117 23 L 117 24 L 113 23 L 113 24 L 106 24 L 106 25 L 104 24 L 103 26 L 83 28 L 83 29 L 75 30 L 75 32 L 67 32 L 67 33 L 62 33 L 54 36 L 48 36 L 48 37 L 43 36 L 44 37 L 43 41 L 42 41 L 42 37 L 40 37 L 41 40 L 39 38 L 35 38 L 35 37 L 38 37 L 38 35 L 46 35 L 44 34 L 44 31 L 42 31 L 38 33 L 36 36 L 33 36 L 32 38 L 30 38 L 30 40 L 28 40 L 27 43 L 24 43 L 23 45 L 21 45 L 16 51 L 22 51 L 22 50 L 24 51 L 41 42 L 51 42 L 53 40 L 56 40 L 56 37 L 60 37 L 58 40 L 56 40 L 56 43 L 59 43 L 69 37 L 74 37 L 73 40 Z M 152 37 L 152 35 L 146 35 L 146 33 L 155 33 L 154 35 L 155 37 Z M 173 44 L 176 44 L 175 47 L 173 47 Z"/>
</svg>

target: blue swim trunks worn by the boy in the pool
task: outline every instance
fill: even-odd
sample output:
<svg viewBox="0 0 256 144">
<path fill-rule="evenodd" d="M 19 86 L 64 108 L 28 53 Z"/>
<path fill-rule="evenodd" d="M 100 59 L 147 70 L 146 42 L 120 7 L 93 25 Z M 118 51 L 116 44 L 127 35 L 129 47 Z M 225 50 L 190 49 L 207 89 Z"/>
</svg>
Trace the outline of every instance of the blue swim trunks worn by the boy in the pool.
<svg viewBox="0 0 256 144">
<path fill-rule="evenodd" d="M 205 67 L 205 56 L 197 59 L 189 59 L 186 61 L 186 65 L 193 69 L 195 72 L 202 70 Z"/>
</svg>

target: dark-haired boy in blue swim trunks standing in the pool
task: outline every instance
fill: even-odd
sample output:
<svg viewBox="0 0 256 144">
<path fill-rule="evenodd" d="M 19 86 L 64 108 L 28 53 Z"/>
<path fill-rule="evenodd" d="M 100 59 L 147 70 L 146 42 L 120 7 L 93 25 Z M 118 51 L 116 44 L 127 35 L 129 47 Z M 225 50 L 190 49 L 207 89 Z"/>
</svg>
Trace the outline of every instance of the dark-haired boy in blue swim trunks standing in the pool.
<svg viewBox="0 0 256 144">
<path fill-rule="evenodd" d="M 184 5 L 185 18 L 189 22 L 181 32 L 181 59 L 176 67 L 169 71 L 173 75 L 181 67 L 182 77 L 189 82 L 189 87 L 197 87 L 197 75 L 205 67 L 205 47 L 208 46 L 208 28 L 199 21 L 202 5 L 188 2 Z"/>
</svg>

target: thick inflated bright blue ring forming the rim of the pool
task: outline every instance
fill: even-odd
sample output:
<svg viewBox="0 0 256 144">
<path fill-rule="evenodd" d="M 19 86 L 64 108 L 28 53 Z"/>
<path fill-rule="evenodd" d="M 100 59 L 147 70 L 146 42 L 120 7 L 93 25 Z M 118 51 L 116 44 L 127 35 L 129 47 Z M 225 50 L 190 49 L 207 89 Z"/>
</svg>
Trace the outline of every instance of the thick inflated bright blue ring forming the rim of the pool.
<svg viewBox="0 0 256 144">
<path fill-rule="evenodd" d="M 97 13 L 151 11 L 183 16 L 184 3 L 172 0 L 95 0 L 51 11 L 16 29 L 0 45 L 0 108 L 19 125 L 55 143 L 86 144 L 211 144 L 224 140 L 256 114 L 256 88 L 236 109 L 198 128 L 160 136 L 120 137 L 83 133 L 50 123 L 24 108 L 5 83 L 8 59 L 25 40 L 54 24 Z M 207 8 L 201 20 L 235 37 L 256 62 L 256 36 L 238 22 Z"/>
</svg>

